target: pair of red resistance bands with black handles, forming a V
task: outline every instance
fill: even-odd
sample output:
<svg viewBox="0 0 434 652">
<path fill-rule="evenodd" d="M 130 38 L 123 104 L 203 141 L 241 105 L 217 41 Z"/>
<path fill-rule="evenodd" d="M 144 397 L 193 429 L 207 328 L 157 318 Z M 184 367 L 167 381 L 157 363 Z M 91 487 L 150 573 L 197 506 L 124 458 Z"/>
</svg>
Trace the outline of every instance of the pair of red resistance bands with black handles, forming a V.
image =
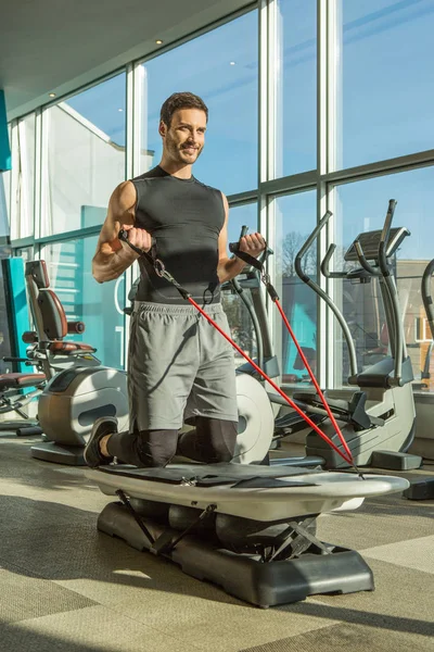
<svg viewBox="0 0 434 652">
<path fill-rule="evenodd" d="M 194 308 L 201 313 L 201 315 L 203 315 L 205 317 L 205 319 L 207 322 L 209 322 L 209 324 L 212 324 L 212 326 L 214 326 L 214 328 L 216 328 L 216 330 L 218 330 L 220 333 L 220 335 L 222 335 L 222 337 L 240 353 L 240 355 L 242 355 L 252 366 L 253 368 L 267 381 L 271 385 L 271 387 L 282 397 L 282 399 L 284 399 L 286 401 L 286 403 L 293 409 L 295 410 L 295 412 L 312 428 L 312 430 L 315 430 L 320 437 L 321 439 L 323 439 L 339 455 L 341 455 L 341 457 L 350 466 L 354 466 L 357 469 L 357 466 L 353 460 L 353 455 L 352 452 L 345 441 L 344 436 L 341 432 L 341 429 L 336 423 L 336 419 L 326 400 L 324 394 L 322 393 L 317 379 L 314 376 L 314 373 L 309 366 L 309 363 L 306 360 L 305 354 L 303 353 L 296 338 L 294 335 L 293 329 L 291 328 L 291 325 L 283 312 L 282 306 L 279 303 L 279 297 L 275 290 L 275 288 L 272 287 L 272 285 L 270 284 L 269 277 L 267 275 L 261 274 L 261 281 L 265 284 L 268 293 L 271 297 L 271 300 L 273 301 L 273 303 L 276 303 L 276 305 L 278 306 L 278 310 L 283 318 L 283 322 L 291 335 L 291 338 L 293 339 L 297 351 L 299 353 L 301 359 L 303 360 L 303 364 L 306 367 L 307 373 L 310 376 L 311 381 L 314 383 L 315 389 L 318 392 L 318 396 L 321 399 L 321 402 L 326 409 L 326 412 L 328 414 L 328 416 L 330 417 L 331 423 L 333 424 L 333 427 L 335 429 L 335 432 L 337 435 L 337 437 L 341 440 L 342 446 L 345 449 L 345 453 L 343 453 L 336 446 L 335 443 L 333 443 L 333 441 L 328 437 L 328 435 L 326 435 L 326 432 L 323 432 L 315 422 L 311 421 L 311 418 L 309 418 L 309 416 L 303 412 L 303 410 L 301 410 L 301 408 L 298 408 L 298 405 L 296 403 L 294 403 L 294 401 L 288 397 L 283 390 L 276 385 L 276 383 L 273 380 L 271 380 L 271 378 L 269 378 L 267 376 L 267 374 L 229 337 L 229 335 L 227 335 L 225 333 L 225 330 L 222 330 L 218 324 L 216 324 L 214 322 L 214 319 L 212 319 L 212 317 L 209 317 L 209 315 L 206 314 L 206 312 L 194 301 L 194 299 L 192 299 L 191 294 L 184 289 L 182 288 L 179 283 L 177 283 L 177 280 L 171 276 L 171 274 L 169 272 L 167 272 L 165 269 L 164 263 L 157 259 L 155 256 L 155 248 L 153 248 L 152 253 L 149 253 L 146 251 L 143 251 L 141 249 L 139 249 L 138 247 L 136 247 L 135 244 L 131 244 L 131 242 L 129 242 L 128 240 L 128 231 L 125 230 L 120 230 L 118 234 L 118 238 L 119 240 L 123 240 L 124 242 L 126 242 L 133 251 L 136 251 L 136 253 L 139 253 L 140 255 L 144 256 L 153 266 L 155 273 L 162 277 L 165 278 L 166 280 L 168 280 L 169 283 L 171 283 L 177 290 L 179 291 L 179 293 L 182 296 L 183 299 L 186 299 L 187 301 L 189 301 L 192 305 L 194 305 Z M 260 273 L 263 273 L 263 264 L 257 261 L 256 259 L 254 259 L 253 256 L 250 256 L 248 254 L 246 254 L 243 251 L 239 250 L 239 243 L 238 242 L 231 242 L 229 244 L 229 250 L 234 253 L 238 258 L 241 258 L 242 260 L 244 260 L 244 262 L 246 262 L 247 264 L 251 264 L 253 266 L 255 266 L 257 269 L 260 271 Z M 358 469 L 357 469 L 358 471 Z"/>
</svg>

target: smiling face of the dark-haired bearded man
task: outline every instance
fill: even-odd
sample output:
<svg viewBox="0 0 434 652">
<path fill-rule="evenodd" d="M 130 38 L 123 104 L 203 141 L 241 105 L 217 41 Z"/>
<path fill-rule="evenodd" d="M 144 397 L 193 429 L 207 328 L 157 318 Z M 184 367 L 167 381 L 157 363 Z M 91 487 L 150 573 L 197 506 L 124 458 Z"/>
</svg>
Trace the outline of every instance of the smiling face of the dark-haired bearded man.
<svg viewBox="0 0 434 652">
<path fill-rule="evenodd" d="M 159 123 L 163 148 L 176 162 L 192 165 L 205 145 L 206 114 L 200 109 L 175 111 L 170 127 Z"/>
</svg>

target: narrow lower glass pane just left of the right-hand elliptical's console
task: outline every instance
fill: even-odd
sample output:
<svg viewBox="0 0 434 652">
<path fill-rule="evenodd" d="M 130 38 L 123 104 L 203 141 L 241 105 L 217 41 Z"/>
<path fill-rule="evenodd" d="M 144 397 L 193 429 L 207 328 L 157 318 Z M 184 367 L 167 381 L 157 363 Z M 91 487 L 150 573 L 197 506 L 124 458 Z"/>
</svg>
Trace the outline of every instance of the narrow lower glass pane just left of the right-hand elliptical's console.
<svg viewBox="0 0 434 652">
<path fill-rule="evenodd" d="M 289 195 L 275 199 L 276 210 L 276 289 L 281 298 L 295 337 L 316 374 L 317 368 L 317 299 L 295 274 L 294 262 L 307 237 L 316 225 L 316 192 Z M 315 280 L 317 258 L 315 247 L 304 259 L 304 271 Z M 310 385 L 310 378 L 299 359 L 280 315 L 276 310 L 273 321 L 275 342 L 285 385 Z"/>
</svg>

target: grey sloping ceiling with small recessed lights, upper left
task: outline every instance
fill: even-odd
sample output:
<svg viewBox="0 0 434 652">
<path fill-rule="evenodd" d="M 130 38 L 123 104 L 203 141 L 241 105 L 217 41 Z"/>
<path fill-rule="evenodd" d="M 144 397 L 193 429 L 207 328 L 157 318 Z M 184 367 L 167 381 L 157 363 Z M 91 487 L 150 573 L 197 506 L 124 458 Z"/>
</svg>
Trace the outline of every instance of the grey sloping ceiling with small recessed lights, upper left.
<svg viewBox="0 0 434 652">
<path fill-rule="evenodd" d="M 0 89 L 8 120 L 155 52 L 246 0 L 1 0 Z M 181 62 L 180 62 L 181 65 Z"/>
</svg>

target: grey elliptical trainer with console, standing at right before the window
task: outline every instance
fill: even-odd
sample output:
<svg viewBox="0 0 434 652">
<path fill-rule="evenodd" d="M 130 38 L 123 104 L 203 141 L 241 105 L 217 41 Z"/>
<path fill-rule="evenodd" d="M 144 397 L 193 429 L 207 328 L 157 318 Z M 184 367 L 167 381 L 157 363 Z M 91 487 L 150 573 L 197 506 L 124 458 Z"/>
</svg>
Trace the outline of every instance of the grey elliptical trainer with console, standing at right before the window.
<svg viewBox="0 0 434 652">
<path fill-rule="evenodd" d="M 343 435 L 356 463 L 360 466 L 373 465 L 383 468 L 408 469 L 421 465 L 421 457 L 406 455 L 414 437 L 416 412 L 411 381 L 411 361 L 407 354 L 398 294 L 393 275 L 392 258 L 410 235 L 405 227 L 392 227 L 396 201 L 388 202 L 383 229 L 360 234 L 344 255 L 346 262 L 359 263 L 360 267 L 350 272 L 330 272 L 329 265 L 336 246 L 331 243 L 321 263 L 321 272 L 327 278 L 350 279 L 370 283 L 378 278 L 391 340 L 391 354 L 359 372 L 356 350 L 348 325 L 337 305 L 302 268 L 302 259 L 309 247 L 327 226 L 331 212 L 326 213 L 298 252 L 295 269 L 299 278 L 308 285 L 333 312 L 344 334 L 349 353 L 350 375 L 348 385 L 357 386 L 348 400 L 348 390 L 328 391 L 328 402 L 336 417 L 343 422 Z M 334 399 L 333 397 L 339 397 Z M 315 394 L 294 393 L 294 400 L 303 402 L 308 410 L 321 412 Z M 341 415 L 339 415 L 341 412 Z M 322 423 L 323 430 L 334 440 L 330 424 Z M 327 468 L 337 468 L 342 460 L 329 447 L 324 447 L 315 432 L 306 438 L 308 455 L 324 457 Z"/>
</svg>

